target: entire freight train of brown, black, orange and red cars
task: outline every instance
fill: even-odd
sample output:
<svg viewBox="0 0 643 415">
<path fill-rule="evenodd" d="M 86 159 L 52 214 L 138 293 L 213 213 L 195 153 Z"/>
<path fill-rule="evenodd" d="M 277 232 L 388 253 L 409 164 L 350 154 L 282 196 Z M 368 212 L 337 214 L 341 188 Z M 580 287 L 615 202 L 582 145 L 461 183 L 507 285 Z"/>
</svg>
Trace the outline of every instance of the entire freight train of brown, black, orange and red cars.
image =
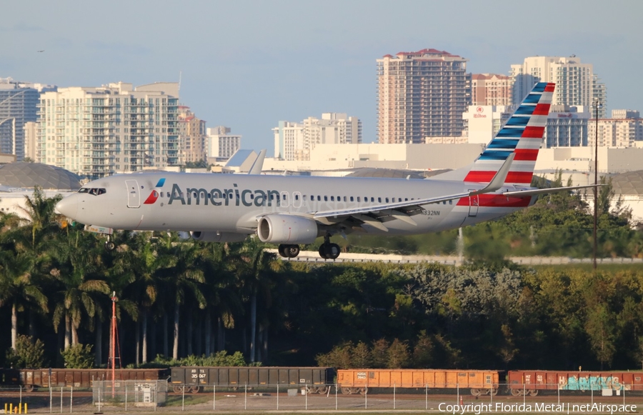
<svg viewBox="0 0 643 415">
<path fill-rule="evenodd" d="M 284 386 L 327 394 L 332 386 L 342 394 L 369 389 L 447 389 L 474 396 L 506 391 L 513 396 L 537 396 L 542 391 L 643 391 L 643 371 L 484 371 L 462 369 L 334 369 L 332 367 L 204 367 L 117 369 L 116 380 L 169 379 L 175 392 L 197 393 L 204 387 Z M 38 387 L 91 387 L 94 380 L 111 380 L 111 369 L 0 369 L 0 384 Z M 507 385 L 501 390 L 500 386 Z M 619 393 L 619 392 L 615 392 Z"/>
</svg>

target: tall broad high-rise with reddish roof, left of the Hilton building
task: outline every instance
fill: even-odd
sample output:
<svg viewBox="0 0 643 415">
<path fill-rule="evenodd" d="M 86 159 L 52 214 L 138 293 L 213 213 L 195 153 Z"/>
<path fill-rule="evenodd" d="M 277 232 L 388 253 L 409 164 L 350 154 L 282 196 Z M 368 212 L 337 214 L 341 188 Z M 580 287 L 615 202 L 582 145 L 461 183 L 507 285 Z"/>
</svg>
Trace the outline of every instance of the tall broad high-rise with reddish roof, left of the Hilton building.
<svg viewBox="0 0 643 415">
<path fill-rule="evenodd" d="M 377 59 L 379 143 L 424 143 L 427 137 L 460 136 L 471 104 L 467 59 L 423 49 Z"/>
</svg>

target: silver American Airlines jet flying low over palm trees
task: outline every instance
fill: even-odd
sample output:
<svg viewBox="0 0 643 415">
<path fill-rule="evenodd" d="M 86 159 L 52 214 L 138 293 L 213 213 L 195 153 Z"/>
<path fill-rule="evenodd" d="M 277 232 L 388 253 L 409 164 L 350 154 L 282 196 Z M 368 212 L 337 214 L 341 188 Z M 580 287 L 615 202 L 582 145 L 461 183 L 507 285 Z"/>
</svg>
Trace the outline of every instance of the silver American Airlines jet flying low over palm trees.
<svg viewBox="0 0 643 415">
<path fill-rule="evenodd" d="M 529 186 L 553 92 L 553 83 L 535 84 L 473 164 L 430 179 L 143 172 L 91 181 L 56 209 L 94 227 L 189 231 L 196 241 L 256 234 L 287 258 L 323 236 L 319 256 L 337 259 L 334 235 L 456 229 L 524 209 L 539 194 L 596 186 Z"/>
</svg>

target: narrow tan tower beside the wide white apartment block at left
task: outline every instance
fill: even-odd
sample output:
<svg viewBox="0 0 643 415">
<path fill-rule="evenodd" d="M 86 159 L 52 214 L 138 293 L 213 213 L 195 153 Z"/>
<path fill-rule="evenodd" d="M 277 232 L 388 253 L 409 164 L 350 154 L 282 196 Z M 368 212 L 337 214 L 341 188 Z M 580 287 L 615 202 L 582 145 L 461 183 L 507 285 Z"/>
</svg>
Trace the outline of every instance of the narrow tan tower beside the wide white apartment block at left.
<svg viewBox="0 0 643 415">
<path fill-rule="evenodd" d="M 195 163 L 205 161 L 206 156 L 206 121 L 194 116 L 189 106 L 179 105 L 177 117 L 179 129 L 179 148 L 183 154 L 183 161 Z"/>
</svg>

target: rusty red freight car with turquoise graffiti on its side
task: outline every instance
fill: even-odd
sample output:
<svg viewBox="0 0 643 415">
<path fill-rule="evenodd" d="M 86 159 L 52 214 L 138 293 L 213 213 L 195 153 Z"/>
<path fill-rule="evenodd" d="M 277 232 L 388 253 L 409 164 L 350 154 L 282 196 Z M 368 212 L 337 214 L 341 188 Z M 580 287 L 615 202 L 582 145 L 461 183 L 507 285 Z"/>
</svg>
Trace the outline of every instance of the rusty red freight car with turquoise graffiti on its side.
<svg viewBox="0 0 643 415">
<path fill-rule="evenodd" d="M 514 396 L 536 396 L 539 391 L 643 391 L 640 371 L 512 370 L 507 374 Z"/>
</svg>

